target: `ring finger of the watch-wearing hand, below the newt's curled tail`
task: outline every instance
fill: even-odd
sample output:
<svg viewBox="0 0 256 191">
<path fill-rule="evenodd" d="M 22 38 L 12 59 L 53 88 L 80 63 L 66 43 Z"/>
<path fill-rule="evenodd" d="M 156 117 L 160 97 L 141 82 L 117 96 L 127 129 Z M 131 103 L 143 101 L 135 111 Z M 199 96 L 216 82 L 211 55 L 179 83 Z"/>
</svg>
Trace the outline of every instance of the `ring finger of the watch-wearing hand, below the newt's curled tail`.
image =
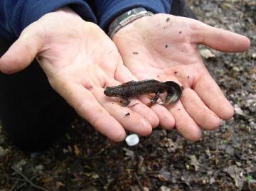
<svg viewBox="0 0 256 191">
<path fill-rule="evenodd" d="M 190 141 L 198 141 L 201 138 L 202 132 L 200 127 L 188 115 L 181 102 L 166 107 L 174 116 L 176 129 L 184 138 Z"/>
</svg>

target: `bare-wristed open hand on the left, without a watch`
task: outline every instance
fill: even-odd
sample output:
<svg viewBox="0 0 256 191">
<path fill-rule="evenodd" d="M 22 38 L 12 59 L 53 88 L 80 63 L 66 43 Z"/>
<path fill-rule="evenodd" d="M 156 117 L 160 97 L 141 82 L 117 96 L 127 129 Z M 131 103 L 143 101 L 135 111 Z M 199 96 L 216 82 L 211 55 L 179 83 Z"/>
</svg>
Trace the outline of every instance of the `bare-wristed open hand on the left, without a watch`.
<svg viewBox="0 0 256 191">
<path fill-rule="evenodd" d="M 103 94 L 106 86 L 136 78 L 124 67 L 112 40 L 70 9 L 48 13 L 25 28 L 1 57 L 0 70 L 21 71 L 35 57 L 53 89 L 113 141 L 122 141 L 125 130 L 149 135 L 159 124 L 154 111 L 139 100 L 132 100 L 140 103 L 134 107 L 122 107 L 119 99 Z"/>
</svg>

